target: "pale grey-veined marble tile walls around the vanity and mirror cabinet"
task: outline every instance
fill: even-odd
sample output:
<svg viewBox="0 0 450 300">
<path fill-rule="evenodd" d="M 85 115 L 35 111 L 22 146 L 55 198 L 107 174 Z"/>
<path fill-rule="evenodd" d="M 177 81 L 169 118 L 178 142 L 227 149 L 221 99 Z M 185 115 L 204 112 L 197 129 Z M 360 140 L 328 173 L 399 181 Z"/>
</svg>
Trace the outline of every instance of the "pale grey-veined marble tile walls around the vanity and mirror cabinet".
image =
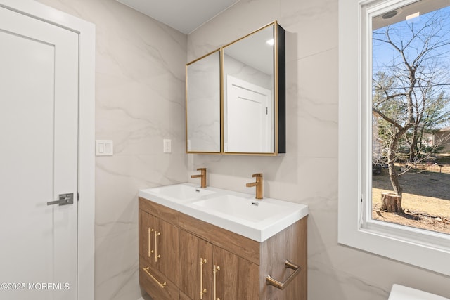
<svg viewBox="0 0 450 300">
<path fill-rule="evenodd" d="M 448 296 L 449 278 L 338 244 L 338 0 L 240 0 L 186 35 L 115 0 L 38 0 L 96 24 L 96 300 L 139 299 L 137 191 L 193 181 L 309 204 L 309 299 L 385 300 L 392 283 Z M 186 155 L 184 65 L 278 20 L 287 40 L 287 153 Z M 187 53 L 187 58 L 186 58 Z M 173 153 L 162 154 L 172 138 Z"/>
</svg>

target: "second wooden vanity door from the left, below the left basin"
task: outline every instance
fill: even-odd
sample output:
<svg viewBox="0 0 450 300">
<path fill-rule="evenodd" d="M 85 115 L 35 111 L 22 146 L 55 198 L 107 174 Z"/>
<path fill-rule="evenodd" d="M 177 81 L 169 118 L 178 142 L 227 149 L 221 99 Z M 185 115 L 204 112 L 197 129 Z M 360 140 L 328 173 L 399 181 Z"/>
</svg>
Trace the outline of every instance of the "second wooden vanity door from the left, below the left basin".
<svg viewBox="0 0 450 300">
<path fill-rule="evenodd" d="M 179 228 L 159 220 L 155 239 L 158 270 L 176 285 L 179 282 Z"/>
</svg>

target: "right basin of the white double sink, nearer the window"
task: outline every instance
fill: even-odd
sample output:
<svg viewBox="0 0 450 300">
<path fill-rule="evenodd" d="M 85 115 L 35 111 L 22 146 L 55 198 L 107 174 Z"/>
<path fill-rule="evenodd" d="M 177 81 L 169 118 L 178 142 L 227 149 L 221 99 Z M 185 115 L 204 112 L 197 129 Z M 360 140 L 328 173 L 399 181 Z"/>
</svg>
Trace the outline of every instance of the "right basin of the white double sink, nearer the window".
<svg viewBox="0 0 450 300">
<path fill-rule="evenodd" d="M 255 223 L 289 211 L 289 207 L 235 195 L 220 195 L 207 200 L 199 200 L 193 202 L 193 206 L 212 210 L 215 214 L 236 217 Z"/>
</svg>

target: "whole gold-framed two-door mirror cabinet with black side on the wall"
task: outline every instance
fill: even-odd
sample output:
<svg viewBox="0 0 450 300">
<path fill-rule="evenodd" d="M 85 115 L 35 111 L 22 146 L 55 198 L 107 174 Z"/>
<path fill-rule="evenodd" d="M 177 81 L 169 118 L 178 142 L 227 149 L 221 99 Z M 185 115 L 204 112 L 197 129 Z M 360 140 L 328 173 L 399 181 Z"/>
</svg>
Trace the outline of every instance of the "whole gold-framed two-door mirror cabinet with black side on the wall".
<svg viewBox="0 0 450 300">
<path fill-rule="evenodd" d="M 285 30 L 272 22 L 186 65 L 188 153 L 285 153 Z"/>
</svg>

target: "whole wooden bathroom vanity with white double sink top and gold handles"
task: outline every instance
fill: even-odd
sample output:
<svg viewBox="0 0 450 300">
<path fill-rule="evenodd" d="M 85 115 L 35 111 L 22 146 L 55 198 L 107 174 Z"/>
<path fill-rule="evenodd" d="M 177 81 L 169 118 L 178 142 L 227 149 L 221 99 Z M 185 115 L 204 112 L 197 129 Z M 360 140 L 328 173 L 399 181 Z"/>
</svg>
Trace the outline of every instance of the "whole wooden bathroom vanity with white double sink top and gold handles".
<svg viewBox="0 0 450 300">
<path fill-rule="evenodd" d="M 307 299 L 307 206 L 190 183 L 139 196 L 139 282 L 153 299 Z"/>
</svg>

